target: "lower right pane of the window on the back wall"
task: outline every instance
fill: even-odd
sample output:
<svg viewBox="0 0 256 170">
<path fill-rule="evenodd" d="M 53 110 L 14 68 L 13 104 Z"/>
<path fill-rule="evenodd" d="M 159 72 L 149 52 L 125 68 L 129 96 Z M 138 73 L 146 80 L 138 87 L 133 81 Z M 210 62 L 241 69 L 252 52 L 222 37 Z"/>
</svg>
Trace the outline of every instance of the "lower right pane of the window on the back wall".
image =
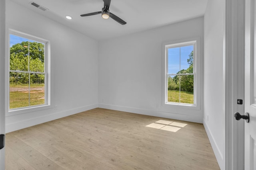
<svg viewBox="0 0 256 170">
<path fill-rule="evenodd" d="M 194 104 L 194 75 L 180 76 L 180 103 Z"/>
</svg>

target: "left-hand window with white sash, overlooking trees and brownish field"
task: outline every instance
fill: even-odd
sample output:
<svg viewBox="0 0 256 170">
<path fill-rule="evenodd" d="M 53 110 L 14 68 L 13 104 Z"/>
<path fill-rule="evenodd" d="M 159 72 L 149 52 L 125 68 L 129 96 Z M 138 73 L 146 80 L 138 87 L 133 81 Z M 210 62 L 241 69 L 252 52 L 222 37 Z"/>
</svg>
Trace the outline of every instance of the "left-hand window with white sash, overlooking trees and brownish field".
<svg viewBox="0 0 256 170">
<path fill-rule="evenodd" d="M 48 41 L 9 34 L 9 111 L 49 106 Z"/>
</svg>

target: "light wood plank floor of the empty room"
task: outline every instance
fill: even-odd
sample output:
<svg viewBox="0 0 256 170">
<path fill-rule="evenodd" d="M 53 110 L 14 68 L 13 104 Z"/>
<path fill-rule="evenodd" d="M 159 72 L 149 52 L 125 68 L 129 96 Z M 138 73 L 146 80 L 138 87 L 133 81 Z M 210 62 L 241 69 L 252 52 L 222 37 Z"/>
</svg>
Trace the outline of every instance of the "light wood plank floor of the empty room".
<svg viewBox="0 0 256 170">
<path fill-rule="evenodd" d="M 146 127 L 186 123 L 177 132 Z M 6 170 L 219 170 L 200 123 L 92 109 L 6 134 Z"/>
</svg>

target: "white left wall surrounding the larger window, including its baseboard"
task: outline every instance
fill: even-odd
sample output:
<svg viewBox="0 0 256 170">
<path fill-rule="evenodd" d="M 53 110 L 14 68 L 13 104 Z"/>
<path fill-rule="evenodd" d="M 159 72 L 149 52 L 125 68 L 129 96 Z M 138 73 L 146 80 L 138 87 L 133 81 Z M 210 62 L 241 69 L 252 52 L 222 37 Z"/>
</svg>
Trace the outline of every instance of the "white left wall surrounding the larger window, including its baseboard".
<svg viewBox="0 0 256 170">
<path fill-rule="evenodd" d="M 6 1 L 6 26 L 7 31 L 16 29 L 50 41 L 52 105 L 58 107 L 19 115 L 6 113 L 6 132 L 98 107 L 97 41 L 10 0 Z"/>
</svg>

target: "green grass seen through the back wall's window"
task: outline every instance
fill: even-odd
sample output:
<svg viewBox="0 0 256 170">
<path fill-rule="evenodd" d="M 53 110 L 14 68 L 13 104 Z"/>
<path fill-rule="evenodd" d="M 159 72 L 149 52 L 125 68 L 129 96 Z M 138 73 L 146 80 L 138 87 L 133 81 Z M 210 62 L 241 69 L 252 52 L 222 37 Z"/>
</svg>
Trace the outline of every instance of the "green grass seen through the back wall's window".
<svg viewBox="0 0 256 170">
<path fill-rule="evenodd" d="M 168 90 L 168 102 L 194 104 L 194 94 L 191 92 Z"/>
</svg>

